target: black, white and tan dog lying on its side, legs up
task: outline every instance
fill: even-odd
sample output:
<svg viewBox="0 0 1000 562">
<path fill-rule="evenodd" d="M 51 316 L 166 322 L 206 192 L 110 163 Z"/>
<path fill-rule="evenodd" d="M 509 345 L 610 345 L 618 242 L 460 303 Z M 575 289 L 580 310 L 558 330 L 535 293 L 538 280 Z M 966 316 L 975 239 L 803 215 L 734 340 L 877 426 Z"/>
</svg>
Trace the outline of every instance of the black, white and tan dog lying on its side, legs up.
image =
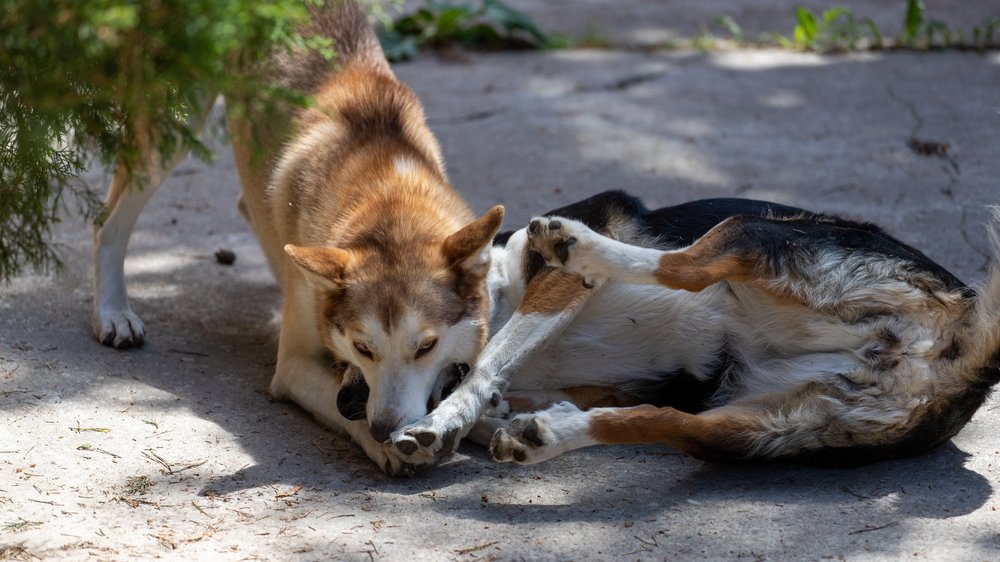
<svg viewBox="0 0 1000 562">
<path fill-rule="evenodd" d="M 876 226 L 773 203 L 603 193 L 498 236 L 488 284 L 474 370 L 386 444 L 409 466 L 470 431 L 520 463 L 668 443 L 856 465 L 940 445 L 1000 380 L 996 263 L 977 293 Z"/>
</svg>

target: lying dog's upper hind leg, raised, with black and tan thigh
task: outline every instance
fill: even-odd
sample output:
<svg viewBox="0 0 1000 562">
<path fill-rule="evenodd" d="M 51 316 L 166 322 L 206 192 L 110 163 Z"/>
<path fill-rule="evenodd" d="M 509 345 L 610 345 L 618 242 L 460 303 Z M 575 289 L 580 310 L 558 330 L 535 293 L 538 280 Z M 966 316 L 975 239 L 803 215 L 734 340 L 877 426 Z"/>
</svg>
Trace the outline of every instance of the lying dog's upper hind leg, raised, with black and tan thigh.
<svg viewBox="0 0 1000 562">
<path fill-rule="evenodd" d="M 926 306 L 951 314 L 964 310 L 967 298 L 960 281 L 916 250 L 846 221 L 736 216 L 690 246 L 666 251 L 625 244 L 558 217 L 533 219 L 528 231 L 532 249 L 587 282 L 697 292 L 728 281 L 841 318 Z"/>
</svg>

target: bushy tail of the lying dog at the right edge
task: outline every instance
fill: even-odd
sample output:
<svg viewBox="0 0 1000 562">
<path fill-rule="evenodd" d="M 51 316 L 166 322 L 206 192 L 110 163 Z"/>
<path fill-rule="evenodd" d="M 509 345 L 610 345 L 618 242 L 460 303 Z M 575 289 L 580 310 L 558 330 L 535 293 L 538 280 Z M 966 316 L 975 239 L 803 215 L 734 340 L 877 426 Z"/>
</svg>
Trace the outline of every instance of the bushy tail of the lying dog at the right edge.
<svg viewBox="0 0 1000 562">
<path fill-rule="evenodd" d="M 953 375 L 952 399 L 940 415 L 957 433 L 1000 382 L 1000 207 L 991 209 L 988 227 L 992 265 L 986 282 L 959 319 L 951 346 L 941 354 L 942 371 Z M 950 435 L 948 436 L 950 437 Z"/>
</svg>

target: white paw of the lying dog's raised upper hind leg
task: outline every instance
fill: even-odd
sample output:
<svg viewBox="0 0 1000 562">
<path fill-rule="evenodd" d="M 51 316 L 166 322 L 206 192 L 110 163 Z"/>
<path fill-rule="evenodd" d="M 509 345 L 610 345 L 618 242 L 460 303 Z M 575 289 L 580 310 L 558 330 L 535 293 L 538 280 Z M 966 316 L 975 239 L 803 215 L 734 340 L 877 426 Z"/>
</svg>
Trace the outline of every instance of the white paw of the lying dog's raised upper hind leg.
<svg viewBox="0 0 1000 562">
<path fill-rule="evenodd" d="M 601 235 L 572 219 L 538 217 L 528 223 L 528 246 L 549 265 L 583 277 L 587 286 L 610 274 L 595 251 L 600 239 Z"/>
</svg>

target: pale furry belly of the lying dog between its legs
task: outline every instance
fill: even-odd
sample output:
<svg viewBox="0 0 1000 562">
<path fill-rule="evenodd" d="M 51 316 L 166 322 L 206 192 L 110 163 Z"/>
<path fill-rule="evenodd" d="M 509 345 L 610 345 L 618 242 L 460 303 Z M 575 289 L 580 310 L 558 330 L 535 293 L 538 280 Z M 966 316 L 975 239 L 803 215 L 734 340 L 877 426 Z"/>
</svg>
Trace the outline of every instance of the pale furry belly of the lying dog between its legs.
<svg viewBox="0 0 1000 562">
<path fill-rule="evenodd" d="M 874 326 L 764 303 L 755 293 L 728 284 L 699 293 L 609 284 L 561 337 L 528 360 L 510 389 L 596 386 L 657 404 L 687 404 L 688 397 L 675 394 L 694 393 L 691 405 L 707 407 L 838 381 L 864 367 Z"/>
</svg>

